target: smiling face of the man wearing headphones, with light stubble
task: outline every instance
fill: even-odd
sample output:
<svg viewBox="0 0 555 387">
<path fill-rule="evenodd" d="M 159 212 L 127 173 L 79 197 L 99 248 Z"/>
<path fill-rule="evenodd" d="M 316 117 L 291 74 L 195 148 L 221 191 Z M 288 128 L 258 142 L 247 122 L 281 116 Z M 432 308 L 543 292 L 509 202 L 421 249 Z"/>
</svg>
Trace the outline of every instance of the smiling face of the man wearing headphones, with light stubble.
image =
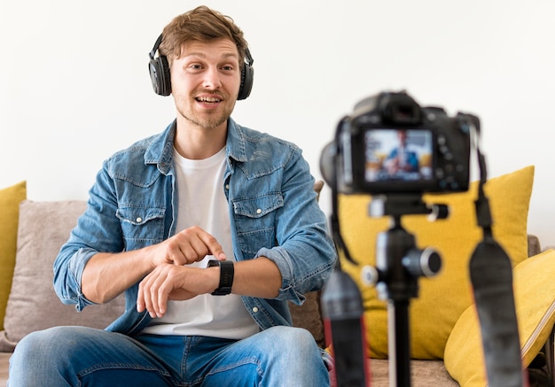
<svg viewBox="0 0 555 387">
<path fill-rule="evenodd" d="M 171 63 L 177 112 L 202 128 L 217 128 L 231 116 L 241 81 L 238 50 L 231 40 L 184 44 Z"/>
</svg>

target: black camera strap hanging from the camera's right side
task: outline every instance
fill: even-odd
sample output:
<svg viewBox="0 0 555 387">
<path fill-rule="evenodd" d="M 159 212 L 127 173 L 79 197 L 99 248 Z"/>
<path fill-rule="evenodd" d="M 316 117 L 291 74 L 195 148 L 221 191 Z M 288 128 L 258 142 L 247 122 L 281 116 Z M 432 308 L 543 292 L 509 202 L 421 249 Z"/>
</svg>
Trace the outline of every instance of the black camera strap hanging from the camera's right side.
<svg viewBox="0 0 555 387">
<path fill-rule="evenodd" d="M 476 219 L 483 230 L 470 259 L 469 270 L 473 296 L 480 320 L 482 346 L 489 387 L 522 387 L 520 337 L 512 288 L 511 259 L 496 242 L 492 232 L 489 200 L 484 192 L 487 182 L 485 157 L 481 154 L 480 120 L 469 114 L 459 117 L 474 129 L 475 150 L 480 168 Z"/>
</svg>

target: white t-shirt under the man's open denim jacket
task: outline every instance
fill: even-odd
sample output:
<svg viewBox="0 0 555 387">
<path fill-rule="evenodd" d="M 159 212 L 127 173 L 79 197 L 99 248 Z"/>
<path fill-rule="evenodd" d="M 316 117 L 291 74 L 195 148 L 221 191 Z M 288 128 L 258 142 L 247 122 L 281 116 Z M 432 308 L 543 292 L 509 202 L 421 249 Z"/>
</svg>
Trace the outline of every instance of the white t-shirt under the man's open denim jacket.
<svg viewBox="0 0 555 387">
<path fill-rule="evenodd" d="M 222 244 L 227 259 L 233 257 L 231 221 L 223 193 L 225 148 L 208 159 L 184 159 L 174 150 L 179 206 L 176 232 L 199 226 Z M 193 267 L 207 267 L 207 256 Z M 240 296 L 201 294 L 185 301 L 168 301 L 168 311 L 144 329 L 156 335 L 207 336 L 241 339 L 260 329 Z"/>
</svg>

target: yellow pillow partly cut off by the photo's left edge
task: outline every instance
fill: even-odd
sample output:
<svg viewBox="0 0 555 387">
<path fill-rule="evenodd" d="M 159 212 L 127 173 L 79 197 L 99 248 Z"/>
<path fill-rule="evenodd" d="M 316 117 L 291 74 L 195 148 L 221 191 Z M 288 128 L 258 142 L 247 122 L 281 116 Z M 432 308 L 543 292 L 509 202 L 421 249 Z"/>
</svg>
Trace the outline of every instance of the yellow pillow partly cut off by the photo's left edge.
<svg viewBox="0 0 555 387">
<path fill-rule="evenodd" d="M 0 330 L 4 329 L 4 313 L 12 288 L 13 267 L 18 237 L 20 202 L 27 198 L 27 183 L 19 182 L 0 190 Z"/>
</svg>

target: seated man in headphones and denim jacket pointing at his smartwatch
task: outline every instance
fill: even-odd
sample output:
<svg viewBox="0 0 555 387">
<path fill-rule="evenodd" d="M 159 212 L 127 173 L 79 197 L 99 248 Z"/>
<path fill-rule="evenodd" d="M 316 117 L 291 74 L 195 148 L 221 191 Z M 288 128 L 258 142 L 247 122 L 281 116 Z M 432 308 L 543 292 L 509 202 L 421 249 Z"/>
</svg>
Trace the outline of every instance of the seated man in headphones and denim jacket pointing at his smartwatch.
<svg viewBox="0 0 555 387">
<path fill-rule="evenodd" d="M 309 166 L 231 119 L 252 60 L 230 18 L 196 8 L 158 43 L 152 82 L 176 120 L 105 161 L 54 264 L 64 303 L 125 292 L 126 311 L 106 330 L 28 335 L 9 383 L 327 385 L 329 358 L 286 303 L 320 289 L 336 259 Z"/>
</svg>

